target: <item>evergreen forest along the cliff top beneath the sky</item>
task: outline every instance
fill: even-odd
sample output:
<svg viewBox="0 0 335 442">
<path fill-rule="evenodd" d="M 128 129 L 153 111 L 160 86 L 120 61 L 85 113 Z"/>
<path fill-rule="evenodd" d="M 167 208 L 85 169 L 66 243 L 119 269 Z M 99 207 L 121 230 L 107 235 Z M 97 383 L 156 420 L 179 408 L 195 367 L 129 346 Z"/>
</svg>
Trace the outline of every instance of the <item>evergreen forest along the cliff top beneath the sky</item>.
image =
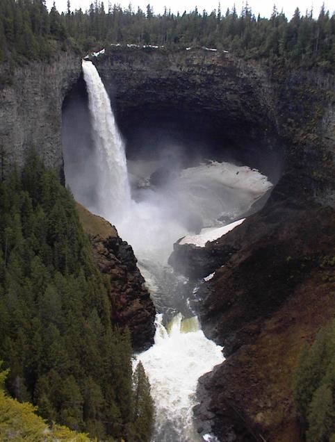
<svg viewBox="0 0 335 442">
<path fill-rule="evenodd" d="M 95 1 L 85 13 L 79 9 L 59 14 L 50 12 L 42 0 L 1 0 L 0 61 L 9 53 L 15 59 L 47 58 L 56 42 L 81 51 L 108 47 L 111 43 L 154 44 L 165 48 L 214 47 L 233 51 L 245 58 L 271 58 L 306 66 L 334 68 L 335 15 L 322 7 L 317 18 L 313 11 L 299 9 L 290 21 L 273 8 L 270 19 L 255 17 L 247 2 L 240 14 L 236 8 L 221 12 L 155 15 L 152 7 L 143 12 L 131 6 L 109 6 Z"/>
</svg>

